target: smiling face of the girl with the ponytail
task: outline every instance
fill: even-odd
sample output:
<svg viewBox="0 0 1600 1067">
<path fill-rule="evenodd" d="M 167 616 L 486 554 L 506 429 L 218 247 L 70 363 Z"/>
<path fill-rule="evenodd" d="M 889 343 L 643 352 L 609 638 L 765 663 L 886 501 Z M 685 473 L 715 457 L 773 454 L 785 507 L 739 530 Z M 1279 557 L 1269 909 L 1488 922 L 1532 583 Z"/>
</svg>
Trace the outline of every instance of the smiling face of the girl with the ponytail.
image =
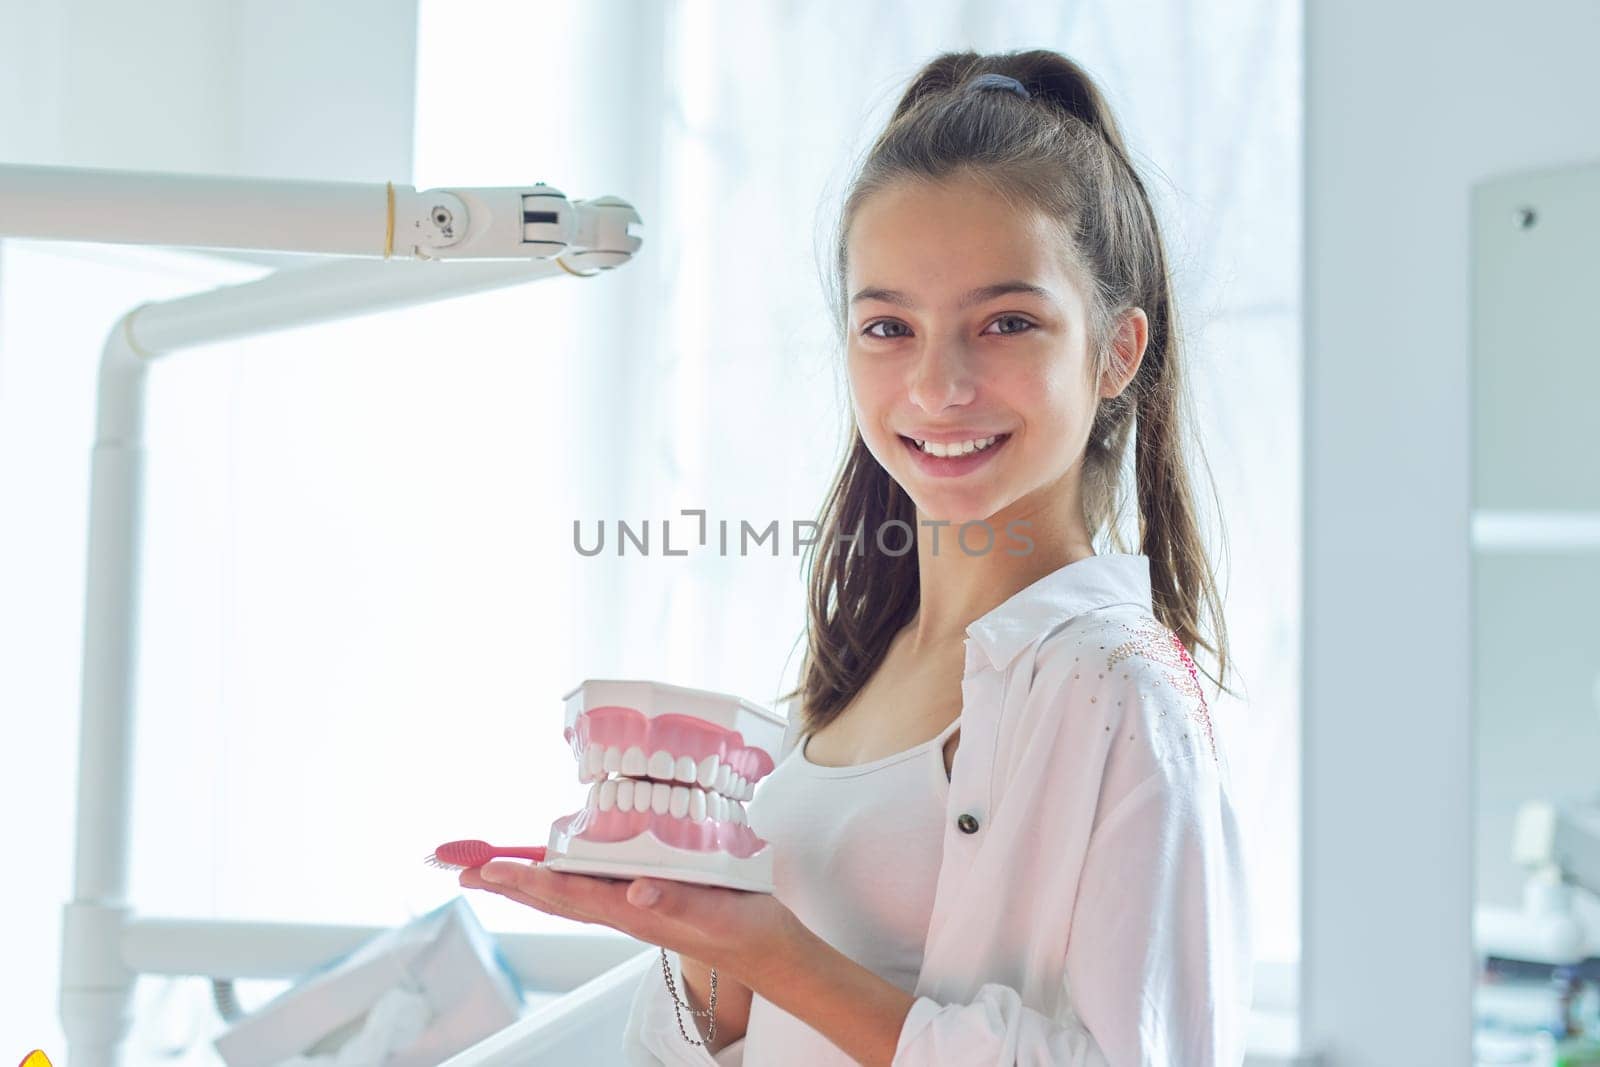
<svg viewBox="0 0 1600 1067">
<path fill-rule="evenodd" d="M 1059 240 L 1046 216 L 966 179 L 904 182 L 856 213 L 845 291 L 856 426 L 923 518 L 998 526 L 1077 499 L 1059 490 L 1077 477 L 1099 389 Z"/>
</svg>

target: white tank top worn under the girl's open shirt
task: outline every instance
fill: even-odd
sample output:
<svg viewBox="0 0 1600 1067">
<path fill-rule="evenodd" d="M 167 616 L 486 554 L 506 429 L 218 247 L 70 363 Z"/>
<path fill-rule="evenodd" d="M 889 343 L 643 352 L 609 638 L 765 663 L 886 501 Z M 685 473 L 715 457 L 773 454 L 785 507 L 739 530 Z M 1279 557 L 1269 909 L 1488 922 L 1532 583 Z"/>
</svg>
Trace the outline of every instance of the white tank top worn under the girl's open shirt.
<svg viewBox="0 0 1600 1067">
<path fill-rule="evenodd" d="M 853 766 L 811 763 L 800 742 L 760 784 L 750 829 L 773 843 L 773 894 L 822 941 L 907 993 L 922 971 L 944 856 L 950 781 L 938 737 Z M 755 993 L 744 1067 L 854 1064 L 810 1024 Z"/>
</svg>

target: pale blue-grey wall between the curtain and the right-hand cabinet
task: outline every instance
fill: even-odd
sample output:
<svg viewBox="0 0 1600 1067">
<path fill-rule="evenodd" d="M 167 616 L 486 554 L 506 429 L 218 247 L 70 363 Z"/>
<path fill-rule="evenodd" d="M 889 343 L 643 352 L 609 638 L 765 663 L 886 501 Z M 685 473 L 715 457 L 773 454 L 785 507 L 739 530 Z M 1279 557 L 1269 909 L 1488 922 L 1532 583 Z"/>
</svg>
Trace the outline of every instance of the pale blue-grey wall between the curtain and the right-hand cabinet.
<svg viewBox="0 0 1600 1067">
<path fill-rule="evenodd" d="M 1306 1037 L 1467 1064 L 1467 190 L 1600 155 L 1600 5 L 1307 5 Z"/>
</svg>

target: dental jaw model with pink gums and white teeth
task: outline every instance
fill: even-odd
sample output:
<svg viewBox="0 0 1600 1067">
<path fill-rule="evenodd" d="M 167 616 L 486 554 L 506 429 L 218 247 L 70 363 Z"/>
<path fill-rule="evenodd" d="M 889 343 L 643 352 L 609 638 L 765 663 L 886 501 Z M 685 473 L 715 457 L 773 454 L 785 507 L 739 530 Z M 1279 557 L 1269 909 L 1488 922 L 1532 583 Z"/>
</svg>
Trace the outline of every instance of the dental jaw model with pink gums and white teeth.
<svg viewBox="0 0 1600 1067">
<path fill-rule="evenodd" d="M 773 769 L 781 715 L 659 681 L 590 678 L 562 699 L 589 800 L 550 825 L 546 867 L 773 891 L 773 849 L 744 805 Z"/>
</svg>

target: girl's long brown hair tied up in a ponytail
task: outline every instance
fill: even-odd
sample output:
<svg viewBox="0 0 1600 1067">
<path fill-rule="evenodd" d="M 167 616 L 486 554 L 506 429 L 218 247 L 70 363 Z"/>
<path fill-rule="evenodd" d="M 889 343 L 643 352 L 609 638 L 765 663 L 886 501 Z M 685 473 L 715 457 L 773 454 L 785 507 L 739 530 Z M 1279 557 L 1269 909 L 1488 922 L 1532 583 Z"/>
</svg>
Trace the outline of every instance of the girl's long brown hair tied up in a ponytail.
<svg viewBox="0 0 1600 1067">
<path fill-rule="evenodd" d="M 968 88 L 990 72 L 1016 78 L 1030 98 Z M 1144 309 L 1149 336 L 1139 370 L 1117 397 L 1101 398 L 1085 446 L 1083 517 L 1091 536 L 1128 550 L 1117 517 L 1131 437 L 1138 550 L 1150 558 L 1152 608 L 1187 649 L 1210 653 L 1216 673 L 1206 677 L 1227 691 L 1227 629 L 1184 458 L 1189 397 L 1166 251 L 1122 130 L 1088 72 L 1046 50 L 952 51 L 917 72 L 848 186 L 827 272 L 835 336 L 848 330 L 846 253 L 861 205 L 896 182 L 954 178 L 976 179 L 1006 203 L 1056 219 L 1088 298 L 1098 370 L 1115 358 L 1118 314 Z M 806 550 L 808 640 L 800 685 L 781 697 L 800 696 L 805 733 L 838 717 L 917 613 L 915 552 L 877 550 L 874 531 L 894 520 L 915 530 L 915 506 L 867 451 L 859 427 L 853 429 L 822 502 L 819 536 Z M 1210 637 L 1202 633 L 1202 608 L 1211 619 Z"/>
</svg>

